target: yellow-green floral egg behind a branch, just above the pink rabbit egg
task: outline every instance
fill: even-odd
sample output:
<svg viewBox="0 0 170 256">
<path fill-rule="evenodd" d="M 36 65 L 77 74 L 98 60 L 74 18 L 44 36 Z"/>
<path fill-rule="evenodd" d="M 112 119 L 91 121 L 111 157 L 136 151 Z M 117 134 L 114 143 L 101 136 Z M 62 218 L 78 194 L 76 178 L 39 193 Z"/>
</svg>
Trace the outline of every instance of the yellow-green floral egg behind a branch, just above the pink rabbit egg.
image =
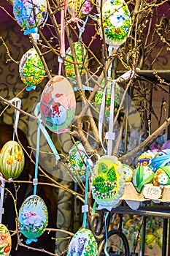
<svg viewBox="0 0 170 256">
<path fill-rule="evenodd" d="M 82 45 L 80 42 L 74 42 L 74 50 L 77 58 L 77 63 L 79 64 L 78 69 L 79 69 L 80 75 L 85 75 L 84 67 L 88 67 L 87 50 L 85 49 L 85 46 Z M 72 51 L 70 48 L 68 48 L 66 50 L 66 61 L 64 62 L 64 64 L 66 67 L 66 76 L 68 76 L 69 78 L 76 77 L 74 64 L 72 62 L 74 62 L 72 58 Z"/>
</svg>

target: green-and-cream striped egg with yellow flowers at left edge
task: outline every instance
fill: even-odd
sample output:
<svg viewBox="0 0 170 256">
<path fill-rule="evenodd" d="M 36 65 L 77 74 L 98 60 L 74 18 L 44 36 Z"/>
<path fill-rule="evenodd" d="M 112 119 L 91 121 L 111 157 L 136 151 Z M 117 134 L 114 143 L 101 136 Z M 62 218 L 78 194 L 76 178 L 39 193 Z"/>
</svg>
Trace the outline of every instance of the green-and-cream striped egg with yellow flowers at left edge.
<svg viewBox="0 0 170 256">
<path fill-rule="evenodd" d="M 6 178 L 18 178 L 23 171 L 25 157 L 23 149 L 14 140 L 9 140 L 1 148 L 0 170 Z"/>
</svg>

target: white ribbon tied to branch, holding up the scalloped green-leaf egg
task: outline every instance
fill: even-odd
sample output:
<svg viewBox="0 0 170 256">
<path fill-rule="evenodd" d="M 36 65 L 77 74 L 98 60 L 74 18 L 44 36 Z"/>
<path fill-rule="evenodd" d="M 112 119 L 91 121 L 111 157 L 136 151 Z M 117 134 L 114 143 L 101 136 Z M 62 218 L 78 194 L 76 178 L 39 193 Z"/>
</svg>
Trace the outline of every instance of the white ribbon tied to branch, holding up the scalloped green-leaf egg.
<svg viewBox="0 0 170 256">
<path fill-rule="evenodd" d="M 112 155 L 112 141 L 115 139 L 115 134 L 113 132 L 113 120 L 114 120 L 114 105 L 115 105 L 115 83 L 123 82 L 128 80 L 129 78 L 133 78 L 135 75 L 134 70 L 128 70 L 119 78 L 112 80 L 111 87 L 111 103 L 110 103 L 110 113 L 109 113 L 109 132 L 106 133 L 106 138 L 108 140 L 108 149 L 104 148 L 104 144 L 102 141 L 102 125 L 104 122 L 104 112 L 105 112 L 105 98 L 107 94 L 107 86 L 104 88 L 104 93 L 101 102 L 101 109 L 98 118 L 98 136 L 101 142 L 101 146 L 104 149 L 104 154 Z"/>
</svg>

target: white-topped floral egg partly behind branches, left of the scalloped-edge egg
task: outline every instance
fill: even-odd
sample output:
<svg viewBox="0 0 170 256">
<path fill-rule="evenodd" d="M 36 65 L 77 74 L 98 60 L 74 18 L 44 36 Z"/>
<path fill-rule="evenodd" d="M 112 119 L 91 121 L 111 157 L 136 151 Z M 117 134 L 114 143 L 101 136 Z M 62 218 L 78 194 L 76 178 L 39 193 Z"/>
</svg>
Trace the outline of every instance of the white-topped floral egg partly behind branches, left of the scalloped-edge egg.
<svg viewBox="0 0 170 256">
<path fill-rule="evenodd" d="M 75 181 L 85 181 L 85 162 L 87 159 L 85 148 L 80 141 L 77 141 L 77 143 L 70 149 L 67 160 L 69 170 L 72 173 L 73 178 L 75 178 Z"/>
</svg>

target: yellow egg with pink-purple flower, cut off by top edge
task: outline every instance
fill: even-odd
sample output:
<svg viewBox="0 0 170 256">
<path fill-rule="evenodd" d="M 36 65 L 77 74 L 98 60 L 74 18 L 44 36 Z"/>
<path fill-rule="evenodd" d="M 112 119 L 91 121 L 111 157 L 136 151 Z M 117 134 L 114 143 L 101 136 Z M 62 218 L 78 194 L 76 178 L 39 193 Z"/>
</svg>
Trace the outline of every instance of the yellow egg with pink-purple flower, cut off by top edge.
<svg viewBox="0 0 170 256">
<path fill-rule="evenodd" d="M 92 11 L 93 4 L 94 0 L 69 0 L 68 12 L 72 15 L 73 21 L 78 21 Z"/>
</svg>

